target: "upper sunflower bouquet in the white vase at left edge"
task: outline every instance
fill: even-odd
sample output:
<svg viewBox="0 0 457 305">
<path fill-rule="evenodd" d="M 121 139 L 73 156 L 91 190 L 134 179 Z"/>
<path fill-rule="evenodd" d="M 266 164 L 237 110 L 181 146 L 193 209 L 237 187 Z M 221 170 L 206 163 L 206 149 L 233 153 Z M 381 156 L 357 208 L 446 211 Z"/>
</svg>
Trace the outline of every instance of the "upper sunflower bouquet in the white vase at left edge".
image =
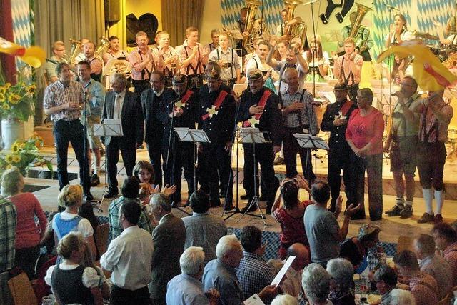
<svg viewBox="0 0 457 305">
<path fill-rule="evenodd" d="M 0 115 L 3 119 L 27 121 L 34 114 L 36 84 L 26 84 L 27 66 L 17 71 L 17 84 L 6 83 L 0 74 Z"/>
</svg>

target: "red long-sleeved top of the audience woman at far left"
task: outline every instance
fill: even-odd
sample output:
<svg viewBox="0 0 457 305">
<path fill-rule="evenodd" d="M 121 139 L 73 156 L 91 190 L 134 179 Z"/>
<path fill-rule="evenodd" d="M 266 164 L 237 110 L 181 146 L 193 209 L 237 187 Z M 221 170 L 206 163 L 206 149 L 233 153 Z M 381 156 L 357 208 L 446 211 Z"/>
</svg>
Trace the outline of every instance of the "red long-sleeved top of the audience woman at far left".
<svg viewBox="0 0 457 305">
<path fill-rule="evenodd" d="M 16 206 L 17 211 L 16 249 L 36 246 L 48 224 L 38 199 L 34 194 L 21 193 L 9 197 L 9 200 Z M 39 219 L 39 226 L 35 223 L 35 215 Z"/>
</svg>

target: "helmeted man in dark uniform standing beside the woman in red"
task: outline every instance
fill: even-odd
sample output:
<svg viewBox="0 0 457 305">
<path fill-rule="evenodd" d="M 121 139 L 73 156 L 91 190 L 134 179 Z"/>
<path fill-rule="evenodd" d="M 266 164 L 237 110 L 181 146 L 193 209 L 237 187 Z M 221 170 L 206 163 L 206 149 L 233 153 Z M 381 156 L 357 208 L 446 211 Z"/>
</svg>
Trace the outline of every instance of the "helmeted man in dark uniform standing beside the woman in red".
<svg viewBox="0 0 457 305">
<path fill-rule="evenodd" d="M 335 211 L 335 204 L 341 189 L 341 171 L 343 171 L 344 192 L 348 204 L 355 199 L 351 186 L 351 154 L 353 151 L 346 141 L 346 126 L 349 116 L 356 104 L 348 100 L 348 88 L 344 83 L 338 83 L 333 88 L 336 102 L 327 106 L 321 123 L 322 131 L 330 131 L 328 140 L 328 176 L 327 181 L 331 190 L 330 211 Z"/>
</svg>

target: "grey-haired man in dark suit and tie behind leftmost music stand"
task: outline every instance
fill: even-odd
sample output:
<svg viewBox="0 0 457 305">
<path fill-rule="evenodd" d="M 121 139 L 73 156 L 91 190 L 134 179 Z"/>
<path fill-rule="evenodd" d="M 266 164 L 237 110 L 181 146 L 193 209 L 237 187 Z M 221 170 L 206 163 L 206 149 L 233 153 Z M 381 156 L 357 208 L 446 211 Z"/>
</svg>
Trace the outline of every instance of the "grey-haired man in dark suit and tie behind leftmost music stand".
<svg viewBox="0 0 457 305">
<path fill-rule="evenodd" d="M 108 166 L 108 194 L 105 198 L 112 198 L 119 194 L 117 189 L 117 162 L 119 151 L 126 168 L 127 176 L 132 175 L 136 161 L 136 149 L 143 143 L 143 114 L 138 96 L 127 88 L 124 74 L 111 76 L 111 89 L 106 93 L 103 114 L 104 119 L 121 119 L 123 136 L 107 136 L 105 139 L 106 162 Z"/>
</svg>

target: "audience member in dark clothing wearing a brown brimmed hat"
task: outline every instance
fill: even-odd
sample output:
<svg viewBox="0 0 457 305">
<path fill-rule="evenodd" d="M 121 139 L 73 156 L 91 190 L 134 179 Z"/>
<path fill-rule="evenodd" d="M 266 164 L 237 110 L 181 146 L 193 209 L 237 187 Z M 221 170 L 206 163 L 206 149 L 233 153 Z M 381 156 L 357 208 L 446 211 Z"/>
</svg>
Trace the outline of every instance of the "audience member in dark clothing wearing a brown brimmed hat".
<svg viewBox="0 0 457 305">
<path fill-rule="evenodd" d="M 347 239 L 341 244 L 340 256 L 351 261 L 353 269 L 357 269 L 368 254 L 368 250 L 376 246 L 381 229 L 374 224 L 363 224 L 358 229 L 358 236 Z"/>
</svg>

